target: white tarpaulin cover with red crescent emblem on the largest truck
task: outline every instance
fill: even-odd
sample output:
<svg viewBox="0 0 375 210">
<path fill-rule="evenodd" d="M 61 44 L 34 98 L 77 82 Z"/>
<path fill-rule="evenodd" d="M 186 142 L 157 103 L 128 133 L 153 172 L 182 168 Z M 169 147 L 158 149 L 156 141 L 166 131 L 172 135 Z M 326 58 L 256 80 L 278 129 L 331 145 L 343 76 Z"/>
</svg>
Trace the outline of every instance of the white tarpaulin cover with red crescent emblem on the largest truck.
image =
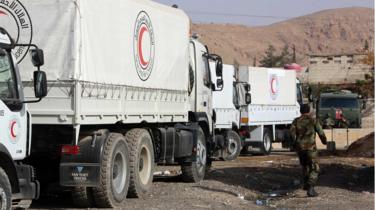
<svg viewBox="0 0 375 210">
<path fill-rule="evenodd" d="M 187 90 L 190 23 L 181 10 L 148 0 L 20 2 L 48 80 Z M 20 69 L 30 81 L 28 56 Z"/>
</svg>

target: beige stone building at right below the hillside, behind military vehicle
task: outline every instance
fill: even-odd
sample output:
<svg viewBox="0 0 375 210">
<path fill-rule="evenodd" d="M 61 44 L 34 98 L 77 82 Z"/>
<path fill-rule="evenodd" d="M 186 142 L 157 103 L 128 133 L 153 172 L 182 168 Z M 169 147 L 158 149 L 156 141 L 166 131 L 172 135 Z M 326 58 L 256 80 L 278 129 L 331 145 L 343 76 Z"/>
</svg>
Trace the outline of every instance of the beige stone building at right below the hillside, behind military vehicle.
<svg viewBox="0 0 375 210">
<path fill-rule="evenodd" d="M 343 84 L 365 80 L 373 67 L 363 64 L 365 54 L 310 55 L 307 80 L 311 84 Z"/>
</svg>

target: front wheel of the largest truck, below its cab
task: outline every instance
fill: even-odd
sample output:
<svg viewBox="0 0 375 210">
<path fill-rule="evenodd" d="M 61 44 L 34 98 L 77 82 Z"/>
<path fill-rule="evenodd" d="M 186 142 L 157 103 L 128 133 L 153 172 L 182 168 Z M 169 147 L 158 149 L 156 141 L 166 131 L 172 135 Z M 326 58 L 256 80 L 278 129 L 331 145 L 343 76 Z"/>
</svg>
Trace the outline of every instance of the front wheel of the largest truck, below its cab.
<svg viewBox="0 0 375 210">
<path fill-rule="evenodd" d="M 183 163 L 181 165 L 182 179 L 185 182 L 200 182 L 203 180 L 206 172 L 207 149 L 206 137 L 203 130 L 199 128 L 197 139 L 197 158 L 195 162 Z"/>
</svg>

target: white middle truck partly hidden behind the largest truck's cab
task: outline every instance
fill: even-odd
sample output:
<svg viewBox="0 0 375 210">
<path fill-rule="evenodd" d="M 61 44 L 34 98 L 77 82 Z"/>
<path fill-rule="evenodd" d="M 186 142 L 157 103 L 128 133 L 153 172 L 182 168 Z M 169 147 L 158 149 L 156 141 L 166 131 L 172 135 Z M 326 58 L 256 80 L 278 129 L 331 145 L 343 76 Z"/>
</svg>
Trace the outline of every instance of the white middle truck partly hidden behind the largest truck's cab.
<svg viewBox="0 0 375 210">
<path fill-rule="evenodd" d="M 212 67 L 215 64 L 212 63 Z M 240 82 L 233 65 L 223 65 L 222 91 L 213 93 L 215 138 L 218 142 L 216 157 L 234 160 L 242 150 L 240 109 L 251 103 L 250 85 Z"/>
</svg>

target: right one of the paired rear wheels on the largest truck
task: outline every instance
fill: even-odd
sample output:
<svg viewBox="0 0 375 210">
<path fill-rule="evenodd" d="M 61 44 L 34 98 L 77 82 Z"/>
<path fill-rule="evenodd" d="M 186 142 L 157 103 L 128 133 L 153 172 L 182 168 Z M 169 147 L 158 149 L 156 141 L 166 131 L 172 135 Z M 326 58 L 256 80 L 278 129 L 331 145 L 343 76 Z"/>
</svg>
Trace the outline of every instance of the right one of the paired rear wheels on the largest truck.
<svg viewBox="0 0 375 210">
<path fill-rule="evenodd" d="M 143 197 L 152 187 L 154 177 L 154 148 L 150 133 L 133 129 L 126 133 L 130 149 L 130 198 Z"/>
</svg>

